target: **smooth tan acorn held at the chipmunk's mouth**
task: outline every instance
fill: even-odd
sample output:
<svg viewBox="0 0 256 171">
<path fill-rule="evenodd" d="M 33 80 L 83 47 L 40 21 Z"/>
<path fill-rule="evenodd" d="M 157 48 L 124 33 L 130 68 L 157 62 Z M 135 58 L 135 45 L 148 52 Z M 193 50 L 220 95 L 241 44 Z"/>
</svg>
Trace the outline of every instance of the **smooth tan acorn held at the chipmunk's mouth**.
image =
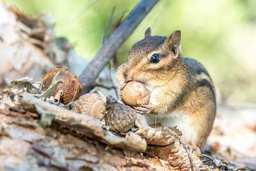
<svg viewBox="0 0 256 171">
<path fill-rule="evenodd" d="M 124 103 L 130 106 L 148 105 L 150 92 L 139 81 L 129 81 L 120 90 L 120 97 Z"/>
</svg>

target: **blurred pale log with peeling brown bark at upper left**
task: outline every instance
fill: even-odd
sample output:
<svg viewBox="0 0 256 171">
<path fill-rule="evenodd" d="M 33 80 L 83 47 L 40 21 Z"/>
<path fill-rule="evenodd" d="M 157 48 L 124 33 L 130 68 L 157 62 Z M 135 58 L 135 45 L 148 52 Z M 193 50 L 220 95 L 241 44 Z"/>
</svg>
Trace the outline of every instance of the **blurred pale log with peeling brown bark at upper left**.
<svg viewBox="0 0 256 171">
<path fill-rule="evenodd" d="M 32 18 L 14 6 L 0 5 L 0 84 L 30 76 L 37 81 L 55 67 L 55 59 L 66 60 L 67 54 L 56 43 L 54 19 L 48 15 Z M 53 48 L 54 46 L 54 48 Z M 0 86 L 1 89 L 1 86 Z"/>
</svg>

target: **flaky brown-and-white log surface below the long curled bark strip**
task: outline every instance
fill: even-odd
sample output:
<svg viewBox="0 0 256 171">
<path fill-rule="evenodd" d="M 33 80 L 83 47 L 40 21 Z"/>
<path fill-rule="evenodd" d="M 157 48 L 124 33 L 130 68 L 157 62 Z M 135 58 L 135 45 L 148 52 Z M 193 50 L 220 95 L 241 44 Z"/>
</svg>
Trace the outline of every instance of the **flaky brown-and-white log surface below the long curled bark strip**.
<svg viewBox="0 0 256 171">
<path fill-rule="evenodd" d="M 54 126 L 42 127 L 32 117 L 24 117 L 21 113 L 11 116 L 9 111 L 0 110 L 0 169 L 153 169 L 151 163 L 144 158 L 126 157 L 122 151 L 115 149 L 105 150 L 104 144 L 76 138 L 68 130 L 60 133 Z M 158 167 L 157 170 L 163 170 L 161 166 Z"/>
</svg>

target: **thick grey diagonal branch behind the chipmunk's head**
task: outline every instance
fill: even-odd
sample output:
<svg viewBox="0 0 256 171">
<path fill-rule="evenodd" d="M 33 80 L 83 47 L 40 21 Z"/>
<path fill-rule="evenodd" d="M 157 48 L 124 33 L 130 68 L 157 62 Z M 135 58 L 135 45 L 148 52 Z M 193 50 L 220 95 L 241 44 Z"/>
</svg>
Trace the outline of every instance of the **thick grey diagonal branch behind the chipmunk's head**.
<svg viewBox="0 0 256 171">
<path fill-rule="evenodd" d="M 94 59 L 79 75 L 79 80 L 83 87 L 81 94 L 88 93 L 93 88 L 92 85 L 94 84 L 101 70 L 110 61 L 117 49 L 131 35 L 131 33 L 157 2 L 158 0 L 142 0 L 104 43 Z"/>
</svg>

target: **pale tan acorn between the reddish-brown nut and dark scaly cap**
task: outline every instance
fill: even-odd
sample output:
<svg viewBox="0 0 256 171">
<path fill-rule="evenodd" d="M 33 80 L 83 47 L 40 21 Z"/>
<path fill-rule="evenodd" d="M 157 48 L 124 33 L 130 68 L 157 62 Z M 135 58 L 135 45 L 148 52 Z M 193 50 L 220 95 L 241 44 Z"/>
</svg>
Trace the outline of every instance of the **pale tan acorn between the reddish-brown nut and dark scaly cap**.
<svg viewBox="0 0 256 171">
<path fill-rule="evenodd" d="M 106 111 L 105 100 L 98 92 L 84 94 L 74 103 L 72 109 L 77 113 L 88 114 L 102 120 Z"/>
</svg>

